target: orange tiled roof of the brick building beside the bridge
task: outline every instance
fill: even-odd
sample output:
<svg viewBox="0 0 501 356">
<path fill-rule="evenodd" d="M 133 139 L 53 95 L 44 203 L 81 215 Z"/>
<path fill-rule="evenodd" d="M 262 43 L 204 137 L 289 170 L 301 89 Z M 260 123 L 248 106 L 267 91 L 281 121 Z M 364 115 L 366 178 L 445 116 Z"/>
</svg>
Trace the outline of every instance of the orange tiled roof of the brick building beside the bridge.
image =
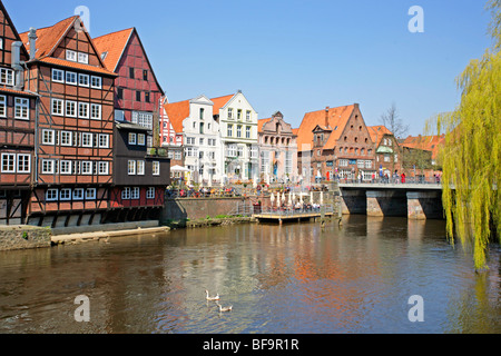
<svg viewBox="0 0 501 356">
<path fill-rule="evenodd" d="M 333 149 L 344 131 L 344 128 L 354 109 L 355 105 L 348 105 L 344 107 L 328 108 L 328 110 L 323 109 L 307 112 L 304 116 L 303 122 L 297 131 L 297 148 L 299 151 L 303 150 L 303 145 L 313 145 L 313 130 L 317 126 L 325 127 L 325 123 L 328 123 L 328 127 L 331 127 L 333 131 L 325 144 L 324 149 Z"/>
</svg>

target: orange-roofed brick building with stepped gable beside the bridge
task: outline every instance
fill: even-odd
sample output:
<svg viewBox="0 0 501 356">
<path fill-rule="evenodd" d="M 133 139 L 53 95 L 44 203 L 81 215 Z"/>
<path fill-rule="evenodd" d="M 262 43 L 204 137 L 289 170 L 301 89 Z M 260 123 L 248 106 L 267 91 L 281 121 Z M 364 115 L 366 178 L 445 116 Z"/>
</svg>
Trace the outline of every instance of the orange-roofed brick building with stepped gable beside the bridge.
<svg viewBox="0 0 501 356">
<path fill-rule="evenodd" d="M 305 184 L 337 177 L 370 180 L 375 172 L 374 142 L 357 103 L 306 113 L 297 137 Z"/>
</svg>

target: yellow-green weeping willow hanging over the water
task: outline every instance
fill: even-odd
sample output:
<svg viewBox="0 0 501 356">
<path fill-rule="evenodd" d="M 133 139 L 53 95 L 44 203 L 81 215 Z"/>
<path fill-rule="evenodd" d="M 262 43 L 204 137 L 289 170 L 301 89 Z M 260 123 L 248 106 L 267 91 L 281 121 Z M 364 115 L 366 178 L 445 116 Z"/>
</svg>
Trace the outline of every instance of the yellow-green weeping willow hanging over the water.
<svg viewBox="0 0 501 356">
<path fill-rule="evenodd" d="M 487 248 L 501 233 L 501 0 L 490 0 L 487 9 L 492 47 L 456 79 L 456 109 L 426 126 L 429 132 L 445 134 L 441 160 L 448 237 L 472 247 L 477 269 L 487 268 Z"/>
</svg>

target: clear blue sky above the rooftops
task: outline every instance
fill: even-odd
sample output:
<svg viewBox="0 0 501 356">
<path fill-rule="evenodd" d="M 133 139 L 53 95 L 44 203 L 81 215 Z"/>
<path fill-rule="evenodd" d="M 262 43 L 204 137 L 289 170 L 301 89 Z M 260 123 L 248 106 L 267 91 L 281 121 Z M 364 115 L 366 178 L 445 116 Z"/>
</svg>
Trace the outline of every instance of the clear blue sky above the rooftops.
<svg viewBox="0 0 501 356">
<path fill-rule="evenodd" d="M 459 103 L 455 78 L 490 46 L 484 0 L 3 0 L 20 32 L 90 10 L 99 37 L 136 27 L 171 102 L 243 90 L 259 118 L 357 102 L 367 125 L 395 102 L 411 135 Z M 424 10 L 411 33 L 409 9 Z"/>
</svg>

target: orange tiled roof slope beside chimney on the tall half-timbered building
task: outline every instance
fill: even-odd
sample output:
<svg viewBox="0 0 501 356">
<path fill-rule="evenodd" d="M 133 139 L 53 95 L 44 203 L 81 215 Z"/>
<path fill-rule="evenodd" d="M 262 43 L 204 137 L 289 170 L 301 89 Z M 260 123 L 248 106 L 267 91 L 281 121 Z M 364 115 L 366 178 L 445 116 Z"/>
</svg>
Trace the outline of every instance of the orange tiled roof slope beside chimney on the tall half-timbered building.
<svg viewBox="0 0 501 356">
<path fill-rule="evenodd" d="M 59 41 L 61 40 L 62 36 L 65 36 L 66 32 L 68 32 L 69 28 L 73 26 L 75 21 L 79 19 L 78 16 L 72 16 L 68 19 L 65 19 L 62 21 L 59 21 L 58 23 L 46 27 L 42 29 L 37 30 L 37 53 L 36 58 L 40 59 L 46 56 L 50 56 L 52 51 L 58 46 Z M 19 36 L 21 37 L 22 42 L 24 43 L 26 49 L 30 50 L 30 43 L 28 40 L 28 33 L 23 32 Z"/>
</svg>

